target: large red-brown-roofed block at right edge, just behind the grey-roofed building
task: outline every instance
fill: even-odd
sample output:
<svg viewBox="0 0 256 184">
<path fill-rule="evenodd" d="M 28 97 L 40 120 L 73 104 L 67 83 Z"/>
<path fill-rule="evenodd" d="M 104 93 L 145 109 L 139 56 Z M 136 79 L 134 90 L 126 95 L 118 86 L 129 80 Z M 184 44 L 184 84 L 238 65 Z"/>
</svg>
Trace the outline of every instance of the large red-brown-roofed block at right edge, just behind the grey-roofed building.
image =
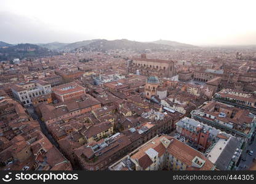
<svg viewBox="0 0 256 184">
<path fill-rule="evenodd" d="M 256 126 L 256 116 L 249 110 L 220 102 L 204 102 L 198 109 L 193 110 L 191 115 L 194 120 L 244 139 L 252 137 Z"/>
</svg>

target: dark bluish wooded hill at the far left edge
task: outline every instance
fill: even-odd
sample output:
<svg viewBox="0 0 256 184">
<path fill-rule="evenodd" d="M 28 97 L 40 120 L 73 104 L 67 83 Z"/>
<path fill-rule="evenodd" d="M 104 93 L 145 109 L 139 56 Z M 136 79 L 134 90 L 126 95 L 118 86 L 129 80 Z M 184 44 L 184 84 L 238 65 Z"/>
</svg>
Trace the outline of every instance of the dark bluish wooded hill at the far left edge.
<svg viewBox="0 0 256 184">
<path fill-rule="evenodd" d="M 0 61 L 14 58 L 38 58 L 58 55 L 58 52 L 34 44 L 18 44 L 11 47 L 0 48 Z"/>
</svg>

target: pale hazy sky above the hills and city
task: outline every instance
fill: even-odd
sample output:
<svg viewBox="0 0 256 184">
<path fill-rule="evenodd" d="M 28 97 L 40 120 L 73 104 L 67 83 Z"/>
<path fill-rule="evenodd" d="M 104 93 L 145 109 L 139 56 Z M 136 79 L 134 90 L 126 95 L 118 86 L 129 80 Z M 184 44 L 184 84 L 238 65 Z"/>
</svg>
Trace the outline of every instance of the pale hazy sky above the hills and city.
<svg viewBox="0 0 256 184">
<path fill-rule="evenodd" d="M 256 44 L 255 7 L 255 0 L 0 0 L 0 40 Z"/>
</svg>

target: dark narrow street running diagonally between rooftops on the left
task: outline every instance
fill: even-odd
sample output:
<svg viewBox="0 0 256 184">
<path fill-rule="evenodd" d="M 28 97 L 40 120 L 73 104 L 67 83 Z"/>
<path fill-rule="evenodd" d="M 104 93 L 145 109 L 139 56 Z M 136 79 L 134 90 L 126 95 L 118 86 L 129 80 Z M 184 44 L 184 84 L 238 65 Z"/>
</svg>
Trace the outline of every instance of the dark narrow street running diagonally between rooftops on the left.
<svg viewBox="0 0 256 184">
<path fill-rule="evenodd" d="M 48 129 L 46 128 L 46 124 L 38 117 L 36 112 L 34 112 L 34 107 L 33 106 L 26 107 L 26 110 L 28 110 L 28 113 L 34 120 L 39 122 L 42 133 L 50 140 L 50 142 L 53 145 L 55 145 L 55 147 L 58 148 L 58 143 L 55 141 L 54 137 L 52 137 L 52 135 L 49 133 Z"/>
</svg>

